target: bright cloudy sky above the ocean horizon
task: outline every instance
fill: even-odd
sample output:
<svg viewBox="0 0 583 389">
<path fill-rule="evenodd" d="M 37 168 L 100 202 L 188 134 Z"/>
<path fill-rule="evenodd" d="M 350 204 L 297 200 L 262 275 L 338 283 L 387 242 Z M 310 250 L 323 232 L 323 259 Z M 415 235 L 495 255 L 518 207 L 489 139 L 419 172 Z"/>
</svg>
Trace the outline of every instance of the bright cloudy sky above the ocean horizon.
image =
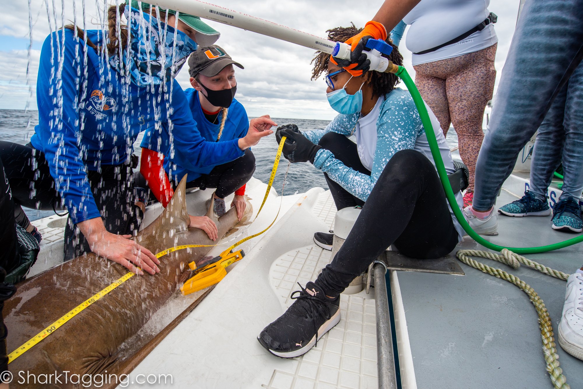
<svg viewBox="0 0 583 389">
<path fill-rule="evenodd" d="M 207 1 L 322 37 L 326 29 L 347 26 L 350 22 L 358 27 L 364 26 L 382 3 L 382 0 Z M 65 4 L 65 12 L 61 9 L 62 2 Z M 0 24 L 0 109 L 37 109 L 35 86 L 44 38 L 55 28 L 73 19 L 80 25 L 85 20 L 88 29 L 100 28 L 104 3 L 104 0 L 30 0 L 30 12 L 26 1 L 3 3 Z M 115 0 L 107 1 L 108 5 L 111 3 L 115 3 Z M 518 4 L 519 0 L 490 2 L 490 11 L 498 15 L 496 87 L 514 33 Z M 335 116 L 335 111 L 326 101 L 324 80 L 310 80 L 313 50 L 216 22 L 208 24 L 221 33 L 217 44 L 245 66 L 244 70 L 236 68 L 236 98 L 243 103 L 250 116 L 269 114 L 276 118 L 303 119 L 332 119 Z M 32 45 L 29 56 L 30 40 Z M 405 40 L 406 33 L 401 52 L 405 66 L 413 76 L 415 71 Z M 187 70 L 187 66 L 184 66 L 177 77 L 183 88 L 189 87 Z"/>
</svg>

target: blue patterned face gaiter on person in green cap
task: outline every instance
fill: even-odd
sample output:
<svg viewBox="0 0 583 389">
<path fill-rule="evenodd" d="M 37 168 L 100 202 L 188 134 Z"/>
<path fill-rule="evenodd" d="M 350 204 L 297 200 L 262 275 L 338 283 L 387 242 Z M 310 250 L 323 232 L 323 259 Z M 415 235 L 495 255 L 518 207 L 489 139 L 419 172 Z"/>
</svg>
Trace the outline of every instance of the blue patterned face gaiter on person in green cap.
<svg viewBox="0 0 583 389">
<path fill-rule="evenodd" d="M 112 55 L 110 65 L 139 87 L 171 81 L 196 50 L 196 42 L 139 9 L 126 6 L 125 17 L 131 32 L 129 58 L 125 51 L 121 61 L 119 55 Z"/>
</svg>

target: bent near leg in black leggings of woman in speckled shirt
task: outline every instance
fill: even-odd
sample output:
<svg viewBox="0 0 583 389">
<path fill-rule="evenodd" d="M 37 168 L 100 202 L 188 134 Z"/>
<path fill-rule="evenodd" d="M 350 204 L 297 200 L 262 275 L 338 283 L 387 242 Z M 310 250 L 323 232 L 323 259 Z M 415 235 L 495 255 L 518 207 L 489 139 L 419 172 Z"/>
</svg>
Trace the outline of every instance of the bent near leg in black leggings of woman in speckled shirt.
<svg viewBox="0 0 583 389">
<path fill-rule="evenodd" d="M 406 256 L 433 259 L 457 243 L 436 169 L 419 151 L 401 150 L 385 166 L 352 231 L 316 283 L 335 297 L 391 245 Z"/>
</svg>

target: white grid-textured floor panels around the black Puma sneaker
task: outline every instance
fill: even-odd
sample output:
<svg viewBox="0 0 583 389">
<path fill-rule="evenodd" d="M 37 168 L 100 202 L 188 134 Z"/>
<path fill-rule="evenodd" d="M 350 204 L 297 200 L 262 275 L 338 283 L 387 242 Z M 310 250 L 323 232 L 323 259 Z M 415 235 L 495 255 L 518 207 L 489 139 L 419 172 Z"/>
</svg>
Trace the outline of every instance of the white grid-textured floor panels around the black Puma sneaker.
<svg viewBox="0 0 583 389">
<path fill-rule="evenodd" d="M 329 193 L 329 192 L 328 192 Z M 325 193 L 323 194 L 325 195 Z M 320 196 L 320 201 L 322 195 Z M 335 209 L 335 207 L 334 207 Z M 292 250 L 276 259 L 269 279 L 286 308 L 290 295 L 313 281 L 330 261 L 330 252 L 318 246 Z M 275 369 L 269 389 L 377 388 L 377 330 L 372 295 L 340 295 L 340 322 L 318 344 L 287 369 Z"/>
</svg>

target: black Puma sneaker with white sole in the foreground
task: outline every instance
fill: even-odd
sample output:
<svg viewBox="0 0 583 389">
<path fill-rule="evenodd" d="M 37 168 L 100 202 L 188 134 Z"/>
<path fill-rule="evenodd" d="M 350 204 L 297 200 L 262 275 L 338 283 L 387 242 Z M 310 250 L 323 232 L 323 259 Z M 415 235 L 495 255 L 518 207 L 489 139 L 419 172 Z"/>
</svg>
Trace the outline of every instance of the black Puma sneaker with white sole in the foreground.
<svg viewBox="0 0 583 389">
<path fill-rule="evenodd" d="M 299 294 L 294 296 L 296 293 Z M 340 297 L 326 297 L 314 282 L 293 292 L 291 298 L 296 301 L 257 338 L 269 352 L 281 358 L 294 358 L 308 352 L 340 321 Z"/>
</svg>

